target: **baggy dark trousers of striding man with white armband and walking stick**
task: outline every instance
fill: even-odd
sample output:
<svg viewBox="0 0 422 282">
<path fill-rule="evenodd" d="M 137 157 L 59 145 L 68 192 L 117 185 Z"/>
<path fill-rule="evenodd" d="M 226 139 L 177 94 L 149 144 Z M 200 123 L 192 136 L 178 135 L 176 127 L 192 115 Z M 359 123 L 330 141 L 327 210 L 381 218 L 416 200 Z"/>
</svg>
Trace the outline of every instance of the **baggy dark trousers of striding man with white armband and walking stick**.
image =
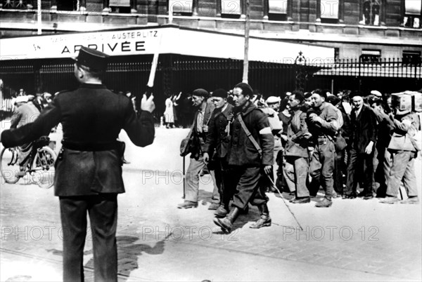
<svg viewBox="0 0 422 282">
<path fill-rule="evenodd" d="M 264 193 L 264 187 L 259 184 L 260 177 L 260 167 L 228 166 L 224 183 L 224 201 L 230 201 L 233 196 L 232 206 L 242 210 L 248 206 L 249 202 L 254 206 L 267 203 L 268 198 Z"/>
</svg>

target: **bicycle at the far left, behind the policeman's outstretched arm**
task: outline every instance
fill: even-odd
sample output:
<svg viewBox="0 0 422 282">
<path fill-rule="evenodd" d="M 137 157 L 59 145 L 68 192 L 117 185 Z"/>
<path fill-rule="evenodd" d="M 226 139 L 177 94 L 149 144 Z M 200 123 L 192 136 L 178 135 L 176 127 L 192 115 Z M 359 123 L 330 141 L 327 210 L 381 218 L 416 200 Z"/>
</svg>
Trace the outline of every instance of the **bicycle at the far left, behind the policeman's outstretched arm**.
<svg viewBox="0 0 422 282">
<path fill-rule="evenodd" d="M 49 189 L 54 183 L 54 163 L 56 153 L 48 147 L 50 138 L 43 136 L 32 144 L 29 161 L 23 172 L 20 171 L 18 147 L 4 148 L 0 155 L 0 172 L 7 183 L 15 184 L 28 173 L 32 182 Z"/>
</svg>

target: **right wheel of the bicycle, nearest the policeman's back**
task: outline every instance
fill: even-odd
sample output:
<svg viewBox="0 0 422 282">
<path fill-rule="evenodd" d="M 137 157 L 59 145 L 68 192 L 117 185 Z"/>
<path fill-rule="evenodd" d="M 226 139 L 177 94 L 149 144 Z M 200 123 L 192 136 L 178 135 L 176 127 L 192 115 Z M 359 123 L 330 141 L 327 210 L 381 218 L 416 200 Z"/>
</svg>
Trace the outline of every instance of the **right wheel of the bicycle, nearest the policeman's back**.
<svg viewBox="0 0 422 282">
<path fill-rule="evenodd" d="M 37 150 L 30 173 L 32 181 L 39 187 L 48 189 L 53 186 L 56 159 L 56 153 L 50 147 L 42 147 Z"/>
</svg>

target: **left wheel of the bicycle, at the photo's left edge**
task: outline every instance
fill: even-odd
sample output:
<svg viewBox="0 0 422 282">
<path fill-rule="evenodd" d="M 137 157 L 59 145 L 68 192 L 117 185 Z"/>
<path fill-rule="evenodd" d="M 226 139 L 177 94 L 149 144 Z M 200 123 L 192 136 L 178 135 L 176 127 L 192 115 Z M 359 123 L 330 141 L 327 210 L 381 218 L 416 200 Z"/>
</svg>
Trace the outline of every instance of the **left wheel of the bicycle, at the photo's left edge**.
<svg viewBox="0 0 422 282">
<path fill-rule="evenodd" d="M 19 150 L 15 147 L 4 148 L 1 151 L 0 156 L 0 171 L 4 181 L 10 184 L 18 182 L 20 176 L 17 175 L 19 172 L 18 162 Z"/>
</svg>

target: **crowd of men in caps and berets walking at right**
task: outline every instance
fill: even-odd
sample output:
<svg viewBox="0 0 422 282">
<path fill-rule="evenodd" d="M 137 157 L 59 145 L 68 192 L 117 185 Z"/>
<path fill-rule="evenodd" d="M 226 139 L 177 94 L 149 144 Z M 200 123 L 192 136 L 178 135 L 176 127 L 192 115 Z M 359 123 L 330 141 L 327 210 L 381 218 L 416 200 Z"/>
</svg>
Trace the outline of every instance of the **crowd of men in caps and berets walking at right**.
<svg viewBox="0 0 422 282">
<path fill-rule="evenodd" d="M 178 208 L 198 206 L 199 173 L 206 165 L 214 180 L 209 209 L 215 210 L 214 222 L 226 232 L 239 214 L 248 212 L 248 203 L 261 215 L 251 228 L 271 225 L 268 183 L 271 189 L 294 194 L 291 203 L 309 203 L 322 187 L 324 198 L 315 204 L 319 208 L 330 207 L 332 198 L 373 199 L 375 192 L 381 203 L 418 203 L 418 146 L 412 141 L 420 118 L 397 105 L 390 108 L 391 103 L 375 93 L 337 97 L 316 89 L 288 93 L 285 100 L 271 96 L 260 101 L 247 83 L 236 84 L 230 93 L 217 89 L 211 98 L 204 89 L 194 90 L 198 112 L 189 135 L 197 137 L 198 150 L 191 155 L 186 196 Z M 284 109 L 278 113 L 280 105 Z M 277 129 L 274 119 L 283 122 L 283 129 Z M 274 159 L 279 165 L 276 184 Z M 401 183 L 405 200 L 398 198 Z"/>
</svg>

